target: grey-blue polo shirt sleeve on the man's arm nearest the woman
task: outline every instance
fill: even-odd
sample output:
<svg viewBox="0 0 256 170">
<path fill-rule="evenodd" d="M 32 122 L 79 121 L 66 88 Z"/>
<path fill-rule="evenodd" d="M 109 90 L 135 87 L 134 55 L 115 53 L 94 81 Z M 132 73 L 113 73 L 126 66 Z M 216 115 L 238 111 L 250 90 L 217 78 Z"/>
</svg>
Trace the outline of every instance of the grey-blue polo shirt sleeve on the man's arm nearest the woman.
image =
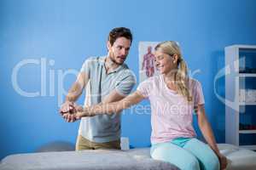
<svg viewBox="0 0 256 170">
<path fill-rule="evenodd" d="M 125 77 L 122 77 L 122 79 L 118 81 L 115 89 L 121 95 L 128 95 L 131 93 L 131 90 L 135 84 L 136 77 L 134 77 L 132 74 L 127 74 Z"/>
</svg>

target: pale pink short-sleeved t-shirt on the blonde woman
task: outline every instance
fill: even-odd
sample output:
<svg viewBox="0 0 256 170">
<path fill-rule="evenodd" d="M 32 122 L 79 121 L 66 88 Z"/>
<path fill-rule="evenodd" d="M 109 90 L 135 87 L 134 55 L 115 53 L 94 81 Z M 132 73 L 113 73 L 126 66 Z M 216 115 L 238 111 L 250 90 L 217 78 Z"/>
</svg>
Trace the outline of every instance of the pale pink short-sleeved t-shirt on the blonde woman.
<svg viewBox="0 0 256 170">
<path fill-rule="evenodd" d="M 192 126 L 194 106 L 205 101 L 200 82 L 190 78 L 189 90 L 193 97 L 190 103 L 167 87 L 163 75 L 150 77 L 139 84 L 137 91 L 150 100 L 152 144 L 196 136 Z"/>
</svg>

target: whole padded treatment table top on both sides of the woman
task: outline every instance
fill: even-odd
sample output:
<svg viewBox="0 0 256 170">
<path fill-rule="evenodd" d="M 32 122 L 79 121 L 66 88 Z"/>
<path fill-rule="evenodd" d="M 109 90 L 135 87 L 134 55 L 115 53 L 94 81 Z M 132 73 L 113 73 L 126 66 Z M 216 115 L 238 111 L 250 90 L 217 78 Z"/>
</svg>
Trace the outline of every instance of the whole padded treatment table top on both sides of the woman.
<svg viewBox="0 0 256 170">
<path fill-rule="evenodd" d="M 255 170 L 256 152 L 231 144 L 218 144 L 227 156 L 227 170 Z M 149 148 L 132 150 L 82 150 L 54 151 L 6 156 L 0 163 L 1 170 L 174 170 L 174 165 L 150 158 Z"/>
</svg>

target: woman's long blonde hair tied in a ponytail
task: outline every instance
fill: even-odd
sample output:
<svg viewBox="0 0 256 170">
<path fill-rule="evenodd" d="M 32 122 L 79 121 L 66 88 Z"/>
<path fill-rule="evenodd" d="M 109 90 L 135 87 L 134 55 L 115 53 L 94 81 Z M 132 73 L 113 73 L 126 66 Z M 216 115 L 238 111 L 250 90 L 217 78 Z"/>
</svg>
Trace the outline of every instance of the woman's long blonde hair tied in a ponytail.
<svg viewBox="0 0 256 170">
<path fill-rule="evenodd" d="M 182 94 L 189 102 L 192 101 L 192 96 L 189 93 L 189 77 L 188 67 L 186 62 L 183 60 L 181 50 L 174 41 L 160 42 L 154 48 L 155 50 L 161 50 L 164 54 L 177 54 L 177 72 L 174 77 L 174 84 L 177 86 L 177 93 Z"/>
</svg>

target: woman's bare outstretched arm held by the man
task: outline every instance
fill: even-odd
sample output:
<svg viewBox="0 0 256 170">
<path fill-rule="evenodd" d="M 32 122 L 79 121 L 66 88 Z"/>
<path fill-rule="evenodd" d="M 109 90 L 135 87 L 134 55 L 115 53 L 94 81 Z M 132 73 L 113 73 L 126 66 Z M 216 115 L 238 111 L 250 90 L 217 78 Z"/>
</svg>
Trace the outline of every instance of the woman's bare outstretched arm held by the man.
<svg viewBox="0 0 256 170">
<path fill-rule="evenodd" d="M 83 111 L 77 112 L 76 116 L 82 117 L 119 113 L 120 111 L 130 107 L 131 105 L 136 105 L 143 99 L 143 95 L 136 91 L 133 94 L 128 95 L 124 99 L 121 99 L 113 103 L 98 104 L 92 105 L 90 107 L 85 107 Z"/>
</svg>

